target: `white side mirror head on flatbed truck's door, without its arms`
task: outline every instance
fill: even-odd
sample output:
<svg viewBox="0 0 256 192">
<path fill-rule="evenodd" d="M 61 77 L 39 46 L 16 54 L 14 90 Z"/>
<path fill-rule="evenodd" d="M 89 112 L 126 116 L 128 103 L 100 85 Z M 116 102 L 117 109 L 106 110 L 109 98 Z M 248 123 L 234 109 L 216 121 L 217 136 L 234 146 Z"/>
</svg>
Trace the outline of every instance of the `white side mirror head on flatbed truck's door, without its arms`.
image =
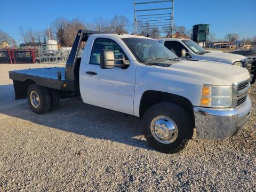
<svg viewBox="0 0 256 192">
<path fill-rule="evenodd" d="M 115 67 L 115 55 L 111 50 L 101 50 L 100 53 L 100 68 L 111 69 Z"/>
</svg>

